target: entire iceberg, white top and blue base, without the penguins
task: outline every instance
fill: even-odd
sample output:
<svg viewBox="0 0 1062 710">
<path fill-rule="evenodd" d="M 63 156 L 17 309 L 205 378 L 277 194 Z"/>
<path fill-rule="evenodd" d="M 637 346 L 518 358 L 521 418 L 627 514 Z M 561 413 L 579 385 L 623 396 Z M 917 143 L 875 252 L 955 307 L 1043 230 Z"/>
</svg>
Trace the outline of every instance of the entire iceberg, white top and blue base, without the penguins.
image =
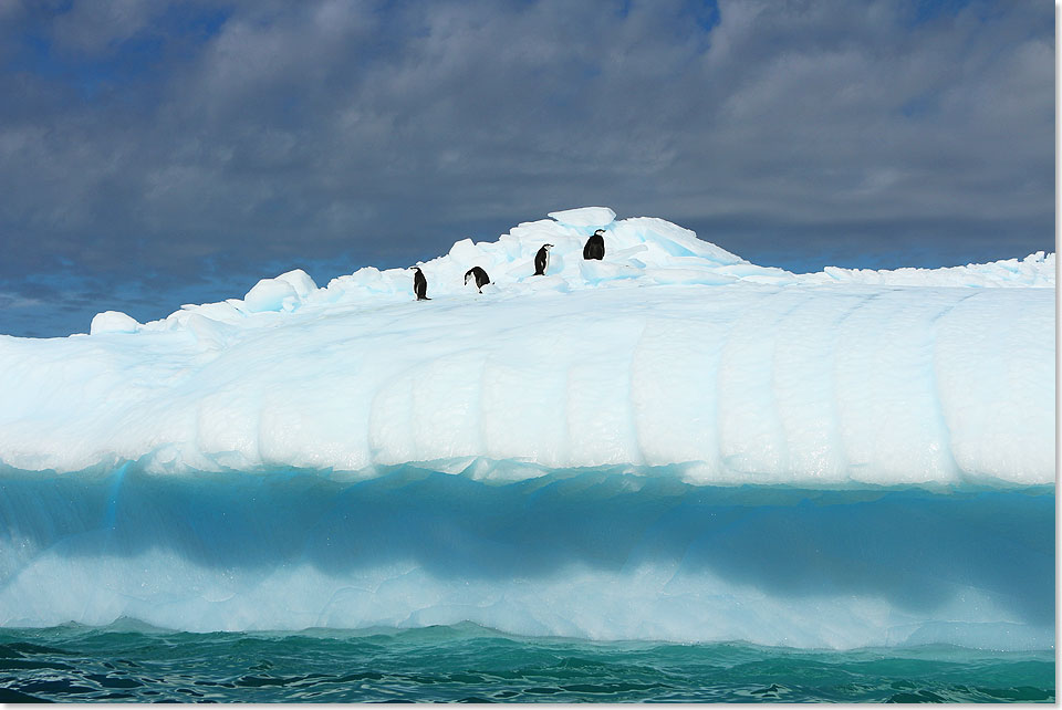
<svg viewBox="0 0 1062 710">
<path fill-rule="evenodd" d="M 419 267 L 0 335 L 0 625 L 1053 647 L 1054 254 L 582 208 Z"/>
</svg>

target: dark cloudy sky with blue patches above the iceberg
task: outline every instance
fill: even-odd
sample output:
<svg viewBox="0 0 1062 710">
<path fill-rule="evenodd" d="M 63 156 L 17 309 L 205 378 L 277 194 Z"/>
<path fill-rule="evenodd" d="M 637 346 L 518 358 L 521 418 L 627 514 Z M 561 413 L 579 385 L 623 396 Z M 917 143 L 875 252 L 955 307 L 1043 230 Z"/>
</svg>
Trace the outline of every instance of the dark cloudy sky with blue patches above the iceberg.
<svg viewBox="0 0 1062 710">
<path fill-rule="evenodd" d="M 583 206 L 754 263 L 1054 251 L 1044 0 L 2 0 L 0 334 Z"/>
</svg>

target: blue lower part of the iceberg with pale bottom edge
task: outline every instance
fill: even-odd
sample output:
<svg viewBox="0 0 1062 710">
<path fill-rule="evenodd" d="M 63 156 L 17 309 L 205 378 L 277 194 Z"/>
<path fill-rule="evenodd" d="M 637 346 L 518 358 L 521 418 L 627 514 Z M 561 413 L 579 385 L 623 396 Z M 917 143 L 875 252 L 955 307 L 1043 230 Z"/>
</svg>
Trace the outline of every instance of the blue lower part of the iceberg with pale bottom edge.
<svg viewBox="0 0 1062 710">
<path fill-rule="evenodd" d="M 0 491 L 8 626 L 467 619 L 524 635 L 810 648 L 1053 638 L 1051 494 L 134 470 L 0 474 Z"/>
</svg>

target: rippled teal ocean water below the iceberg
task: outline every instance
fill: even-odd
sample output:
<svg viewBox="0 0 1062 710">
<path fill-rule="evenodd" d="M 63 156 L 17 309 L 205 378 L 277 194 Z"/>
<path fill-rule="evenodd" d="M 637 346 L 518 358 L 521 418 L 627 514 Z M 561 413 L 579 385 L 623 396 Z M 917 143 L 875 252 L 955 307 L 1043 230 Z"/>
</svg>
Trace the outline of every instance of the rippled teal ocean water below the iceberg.
<svg viewBox="0 0 1062 710">
<path fill-rule="evenodd" d="M 0 629 L 0 701 L 1053 702 L 1053 651 L 585 641 L 472 624 Z"/>
</svg>

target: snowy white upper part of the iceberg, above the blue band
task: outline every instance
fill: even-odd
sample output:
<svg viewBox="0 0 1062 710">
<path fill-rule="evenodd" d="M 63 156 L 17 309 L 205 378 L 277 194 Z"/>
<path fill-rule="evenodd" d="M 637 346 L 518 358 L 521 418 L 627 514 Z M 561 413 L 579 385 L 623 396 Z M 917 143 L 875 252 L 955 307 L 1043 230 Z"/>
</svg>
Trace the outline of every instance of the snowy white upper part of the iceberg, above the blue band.
<svg viewBox="0 0 1062 710">
<path fill-rule="evenodd" d="M 294 270 L 143 325 L 102 313 L 87 338 L 0 336 L 0 463 L 1054 480 L 1054 254 L 792 274 L 602 209 L 456 242 L 423 264 L 430 302 L 405 269 L 322 289 Z M 606 218 L 605 259 L 586 262 Z M 533 276 L 545 242 L 549 274 Z M 464 282 L 473 265 L 482 294 Z"/>
</svg>

